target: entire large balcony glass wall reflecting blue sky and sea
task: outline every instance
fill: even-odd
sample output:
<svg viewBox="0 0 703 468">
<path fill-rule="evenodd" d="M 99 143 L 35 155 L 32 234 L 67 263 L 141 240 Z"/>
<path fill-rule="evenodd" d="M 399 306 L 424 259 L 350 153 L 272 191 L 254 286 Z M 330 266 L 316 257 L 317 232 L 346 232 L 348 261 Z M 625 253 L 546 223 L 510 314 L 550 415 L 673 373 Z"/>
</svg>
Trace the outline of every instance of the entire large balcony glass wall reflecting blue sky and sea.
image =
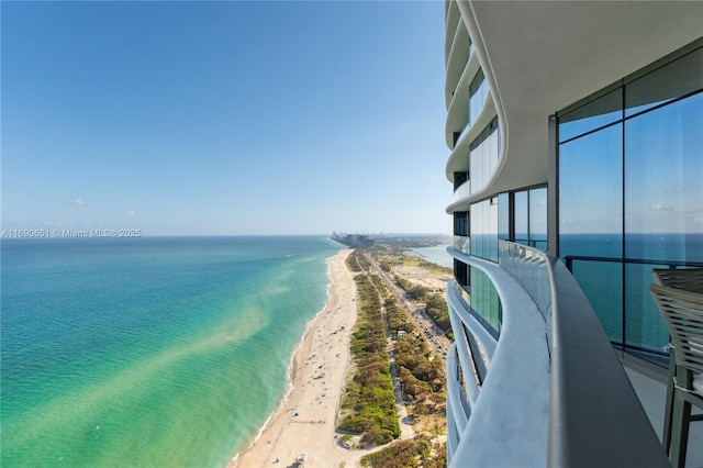
<svg viewBox="0 0 703 468">
<path fill-rule="evenodd" d="M 699 48 L 558 118 L 560 255 L 611 341 L 660 363 L 651 268 L 703 265 L 702 91 Z"/>
</svg>

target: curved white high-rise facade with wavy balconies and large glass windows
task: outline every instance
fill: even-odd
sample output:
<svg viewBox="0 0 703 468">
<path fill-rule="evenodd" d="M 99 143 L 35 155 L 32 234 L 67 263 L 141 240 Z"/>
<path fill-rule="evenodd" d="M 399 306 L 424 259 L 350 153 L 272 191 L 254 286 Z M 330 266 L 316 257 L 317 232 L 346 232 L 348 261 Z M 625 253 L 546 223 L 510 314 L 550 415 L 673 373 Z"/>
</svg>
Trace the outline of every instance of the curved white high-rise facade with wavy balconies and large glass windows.
<svg viewBox="0 0 703 468">
<path fill-rule="evenodd" d="M 666 365 L 650 270 L 703 266 L 703 2 L 445 22 L 449 464 L 666 465 L 612 349 Z"/>
</svg>

